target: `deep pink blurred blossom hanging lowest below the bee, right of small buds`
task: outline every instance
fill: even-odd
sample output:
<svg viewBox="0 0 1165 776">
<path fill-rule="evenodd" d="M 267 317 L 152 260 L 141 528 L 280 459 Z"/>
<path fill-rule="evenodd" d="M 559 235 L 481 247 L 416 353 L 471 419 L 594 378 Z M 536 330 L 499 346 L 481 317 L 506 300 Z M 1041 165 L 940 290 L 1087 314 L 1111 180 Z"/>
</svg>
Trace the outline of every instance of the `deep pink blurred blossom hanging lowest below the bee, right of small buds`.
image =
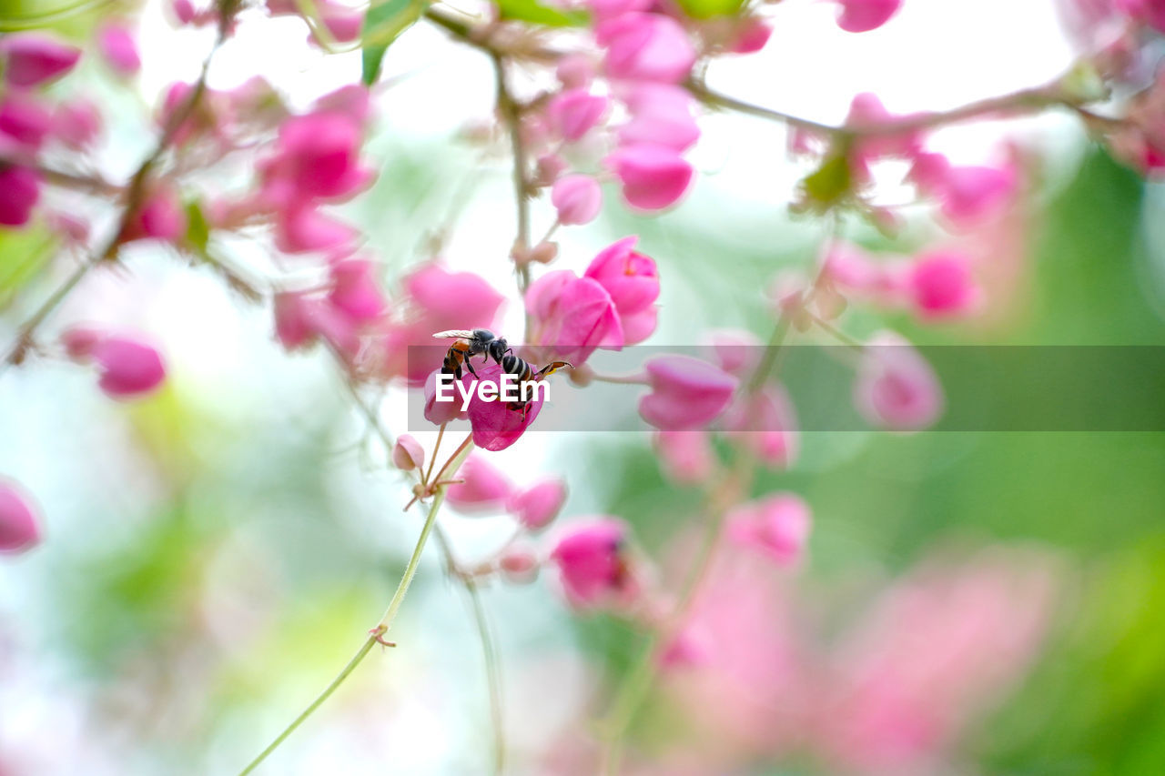
<svg viewBox="0 0 1165 776">
<path fill-rule="evenodd" d="M 627 602 L 637 593 L 626 558 L 627 525 L 616 517 L 572 522 L 550 560 L 558 566 L 566 600 L 578 608 Z"/>
</svg>

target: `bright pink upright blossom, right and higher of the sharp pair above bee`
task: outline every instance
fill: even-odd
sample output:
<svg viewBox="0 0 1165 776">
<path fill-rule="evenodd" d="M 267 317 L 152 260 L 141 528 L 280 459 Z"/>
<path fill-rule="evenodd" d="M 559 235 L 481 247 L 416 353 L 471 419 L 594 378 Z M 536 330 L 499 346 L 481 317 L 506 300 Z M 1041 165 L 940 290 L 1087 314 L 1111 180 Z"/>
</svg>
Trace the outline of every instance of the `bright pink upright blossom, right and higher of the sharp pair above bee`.
<svg viewBox="0 0 1165 776">
<path fill-rule="evenodd" d="M 659 297 L 659 270 L 648 255 L 635 251 L 638 237 L 626 237 L 600 251 L 584 277 L 596 281 L 610 295 L 623 331 L 623 344 L 634 345 L 655 331 L 655 302 Z"/>
</svg>

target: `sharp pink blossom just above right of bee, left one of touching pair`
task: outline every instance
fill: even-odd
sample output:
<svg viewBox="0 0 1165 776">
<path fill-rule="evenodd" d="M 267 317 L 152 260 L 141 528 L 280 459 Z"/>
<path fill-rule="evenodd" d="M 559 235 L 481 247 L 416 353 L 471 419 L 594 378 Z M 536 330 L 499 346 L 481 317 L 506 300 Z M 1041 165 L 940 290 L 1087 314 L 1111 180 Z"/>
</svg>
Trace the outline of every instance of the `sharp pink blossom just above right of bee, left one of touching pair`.
<svg viewBox="0 0 1165 776">
<path fill-rule="evenodd" d="M 527 290 L 525 309 L 534 322 L 534 341 L 574 366 L 598 347 L 623 345 L 610 294 L 591 277 L 578 277 L 569 269 L 546 273 Z"/>
</svg>

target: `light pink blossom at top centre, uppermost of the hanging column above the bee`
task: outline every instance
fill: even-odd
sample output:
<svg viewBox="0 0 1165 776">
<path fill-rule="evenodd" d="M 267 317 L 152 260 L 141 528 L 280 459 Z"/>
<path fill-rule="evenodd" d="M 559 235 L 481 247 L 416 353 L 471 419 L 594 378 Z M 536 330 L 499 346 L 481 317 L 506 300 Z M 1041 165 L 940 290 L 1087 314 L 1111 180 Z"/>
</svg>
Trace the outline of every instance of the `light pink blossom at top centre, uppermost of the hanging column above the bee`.
<svg viewBox="0 0 1165 776">
<path fill-rule="evenodd" d="M 626 13 L 600 22 L 595 37 L 607 49 L 603 68 L 609 78 L 678 84 L 696 63 L 687 33 L 670 16 Z"/>
</svg>

